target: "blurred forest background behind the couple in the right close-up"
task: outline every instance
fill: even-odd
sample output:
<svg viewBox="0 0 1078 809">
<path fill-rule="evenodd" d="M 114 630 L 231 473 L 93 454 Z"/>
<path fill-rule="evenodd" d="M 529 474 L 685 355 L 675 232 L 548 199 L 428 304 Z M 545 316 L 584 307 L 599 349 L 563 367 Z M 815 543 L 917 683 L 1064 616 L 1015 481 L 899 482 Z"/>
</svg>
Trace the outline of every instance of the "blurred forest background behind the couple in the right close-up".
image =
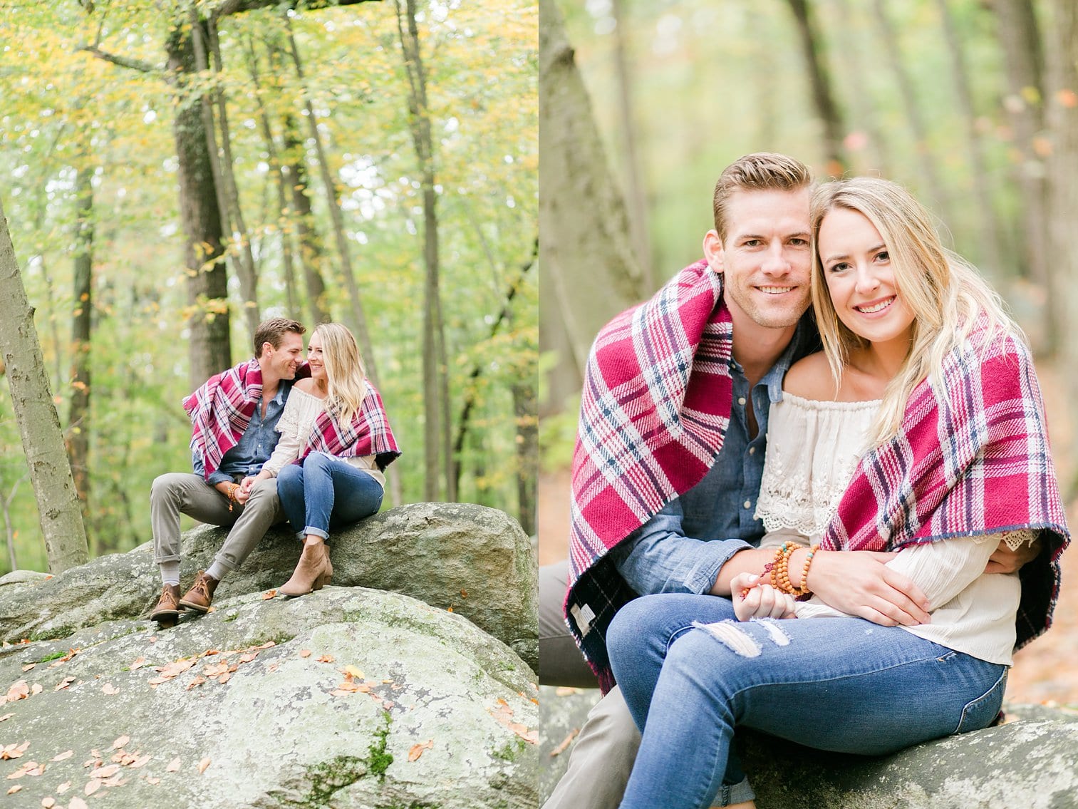
<svg viewBox="0 0 1078 809">
<path fill-rule="evenodd" d="M 540 0 L 540 564 L 565 558 L 583 362 L 699 260 L 719 173 L 778 151 L 880 175 L 1025 329 L 1075 508 L 1078 9 L 1072 0 Z M 563 137 L 564 134 L 564 137 Z M 556 204 L 556 201 L 572 201 Z M 1078 559 L 1008 694 L 1078 704 Z"/>
</svg>

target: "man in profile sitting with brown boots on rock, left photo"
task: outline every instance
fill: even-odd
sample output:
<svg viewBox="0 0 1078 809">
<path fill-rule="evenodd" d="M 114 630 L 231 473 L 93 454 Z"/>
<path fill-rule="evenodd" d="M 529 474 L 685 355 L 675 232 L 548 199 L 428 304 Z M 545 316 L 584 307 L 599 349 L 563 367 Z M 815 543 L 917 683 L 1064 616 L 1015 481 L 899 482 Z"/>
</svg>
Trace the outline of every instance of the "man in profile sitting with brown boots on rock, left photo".
<svg viewBox="0 0 1078 809">
<path fill-rule="evenodd" d="M 161 626 L 174 625 L 183 608 L 208 612 L 221 579 L 284 519 L 276 479 L 250 488 L 240 486 L 240 481 L 257 475 L 277 445 L 277 421 L 303 365 L 304 331 L 302 324 L 280 317 L 260 324 L 254 358 L 211 376 L 183 401 L 193 425 L 194 474 L 162 475 L 150 490 L 154 561 L 163 584 L 150 617 Z M 213 563 L 198 573 L 182 598 L 181 513 L 232 526 Z"/>
</svg>

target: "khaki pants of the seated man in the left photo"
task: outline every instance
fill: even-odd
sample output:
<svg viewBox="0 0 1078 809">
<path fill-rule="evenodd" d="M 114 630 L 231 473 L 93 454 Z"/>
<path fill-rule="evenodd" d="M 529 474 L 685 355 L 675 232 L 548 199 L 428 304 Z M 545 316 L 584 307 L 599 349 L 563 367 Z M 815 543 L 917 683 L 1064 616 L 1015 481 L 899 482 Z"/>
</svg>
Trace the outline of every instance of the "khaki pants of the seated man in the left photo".
<svg viewBox="0 0 1078 809">
<path fill-rule="evenodd" d="M 233 503 L 230 511 L 229 498 L 202 477 L 190 472 L 162 475 L 150 489 L 153 561 L 157 564 L 180 560 L 181 513 L 210 525 L 232 526 L 215 557 L 229 571 L 243 564 L 270 526 L 285 519 L 276 479 L 260 480 L 247 503 Z"/>
</svg>

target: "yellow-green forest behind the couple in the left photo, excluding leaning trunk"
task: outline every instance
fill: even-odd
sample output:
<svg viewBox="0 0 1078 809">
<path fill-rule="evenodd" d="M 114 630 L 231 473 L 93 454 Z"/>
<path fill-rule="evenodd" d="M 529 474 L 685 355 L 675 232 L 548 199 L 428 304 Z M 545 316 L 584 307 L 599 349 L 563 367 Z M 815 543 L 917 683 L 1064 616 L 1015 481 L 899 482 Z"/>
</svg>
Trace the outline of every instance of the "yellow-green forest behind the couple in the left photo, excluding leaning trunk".
<svg viewBox="0 0 1078 809">
<path fill-rule="evenodd" d="M 404 452 L 384 507 L 534 533 L 536 29 L 525 0 L 0 2 L 0 200 L 91 556 L 151 538 L 181 398 L 271 316 L 357 334 Z M 0 573 L 46 570 L 4 370 Z"/>
</svg>

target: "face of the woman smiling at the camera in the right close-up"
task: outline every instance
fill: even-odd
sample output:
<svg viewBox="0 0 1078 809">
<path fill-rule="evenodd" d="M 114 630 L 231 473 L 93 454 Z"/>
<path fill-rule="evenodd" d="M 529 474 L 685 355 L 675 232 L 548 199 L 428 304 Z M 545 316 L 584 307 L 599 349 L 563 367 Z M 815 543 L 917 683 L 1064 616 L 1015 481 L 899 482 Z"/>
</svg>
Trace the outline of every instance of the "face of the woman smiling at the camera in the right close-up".
<svg viewBox="0 0 1078 809">
<path fill-rule="evenodd" d="M 868 218 L 834 208 L 820 222 L 817 249 L 839 319 L 871 343 L 909 343 L 913 312 L 898 293 L 887 245 Z"/>
</svg>

